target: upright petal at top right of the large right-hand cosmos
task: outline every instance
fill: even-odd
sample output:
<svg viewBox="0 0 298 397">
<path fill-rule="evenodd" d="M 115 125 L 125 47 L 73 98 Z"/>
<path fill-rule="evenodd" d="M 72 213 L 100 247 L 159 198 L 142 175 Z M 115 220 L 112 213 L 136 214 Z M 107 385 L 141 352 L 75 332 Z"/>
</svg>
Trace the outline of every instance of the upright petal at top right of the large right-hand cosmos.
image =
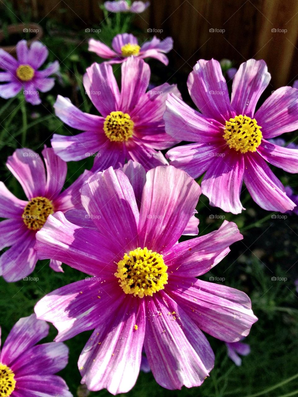
<svg viewBox="0 0 298 397">
<path fill-rule="evenodd" d="M 231 104 L 235 112 L 252 117 L 270 79 L 270 73 L 263 60 L 249 59 L 241 64 L 233 80 Z"/>
</svg>

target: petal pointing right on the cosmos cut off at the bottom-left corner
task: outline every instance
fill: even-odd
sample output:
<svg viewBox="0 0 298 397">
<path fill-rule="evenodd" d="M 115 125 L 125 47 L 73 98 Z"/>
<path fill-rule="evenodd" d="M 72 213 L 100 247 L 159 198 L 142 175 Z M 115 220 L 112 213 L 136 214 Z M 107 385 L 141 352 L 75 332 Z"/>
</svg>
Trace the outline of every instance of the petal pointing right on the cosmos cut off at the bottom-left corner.
<svg viewBox="0 0 298 397">
<path fill-rule="evenodd" d="M 51 375 L 65 368 L 68 362 L 68 347 L 64 343 L 42 343 L 27 349 L 13 362 L 17 377 L 32 375 Z"/>
</svg>

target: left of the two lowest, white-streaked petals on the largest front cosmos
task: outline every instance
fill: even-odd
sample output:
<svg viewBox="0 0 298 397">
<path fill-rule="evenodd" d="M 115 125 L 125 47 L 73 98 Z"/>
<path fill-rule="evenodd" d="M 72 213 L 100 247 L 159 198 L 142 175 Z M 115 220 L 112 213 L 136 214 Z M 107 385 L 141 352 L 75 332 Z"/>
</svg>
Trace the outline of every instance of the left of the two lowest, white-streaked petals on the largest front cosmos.
<svg viewBox="0 0 298 397">
<path fill-rule="evenodd" d="M 114 395 L 131 390 L 140 371 L 144 333 L 144 304 L 126 297 L 115 317 L 94 331 L 79 358 L 82 382 L 89 390 L 105 388 Z"/>
</svg>

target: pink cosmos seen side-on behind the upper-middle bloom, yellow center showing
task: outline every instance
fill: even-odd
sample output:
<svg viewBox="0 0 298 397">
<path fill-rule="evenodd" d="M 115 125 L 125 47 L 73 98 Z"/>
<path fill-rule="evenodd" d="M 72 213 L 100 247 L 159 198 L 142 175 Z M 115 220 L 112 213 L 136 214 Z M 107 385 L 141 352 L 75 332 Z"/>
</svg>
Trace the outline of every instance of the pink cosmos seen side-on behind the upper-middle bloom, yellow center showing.
<svg viewBox="0 0 298 397">
<path fill-rule="evenodd" d="M 127 57 L 135 56 L 138 58 L 156 58 L 167 65 L 169 60 L 165 54 L 173 48 L 173 39 L 167 37 L 160 40 L 154 36 L 152 40 L 139 46 L 137 37 L 129 33 L 122 33 L 113 38 L 112 47 L 113 50 L 99 40 L 90 39 L 88 50 L 95 52 L 101 58 L 110 59 L 107 62 L 108 64 L 120 64 Z"/>
</svg>

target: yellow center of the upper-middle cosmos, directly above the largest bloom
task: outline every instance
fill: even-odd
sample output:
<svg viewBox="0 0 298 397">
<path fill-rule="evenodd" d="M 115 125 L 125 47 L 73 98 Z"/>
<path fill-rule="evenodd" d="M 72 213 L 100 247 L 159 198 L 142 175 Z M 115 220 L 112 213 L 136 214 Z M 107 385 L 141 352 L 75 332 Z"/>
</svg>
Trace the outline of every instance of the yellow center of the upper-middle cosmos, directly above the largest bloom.
<svg viewBox="0 0 298 397">
<path fill-rule="evenodd" d="M 104 121 L 104 133 L 111 142 L 123 142 L 133 136 L 133 126 L 129 114 L 111 112 Z"/>
</svg>

